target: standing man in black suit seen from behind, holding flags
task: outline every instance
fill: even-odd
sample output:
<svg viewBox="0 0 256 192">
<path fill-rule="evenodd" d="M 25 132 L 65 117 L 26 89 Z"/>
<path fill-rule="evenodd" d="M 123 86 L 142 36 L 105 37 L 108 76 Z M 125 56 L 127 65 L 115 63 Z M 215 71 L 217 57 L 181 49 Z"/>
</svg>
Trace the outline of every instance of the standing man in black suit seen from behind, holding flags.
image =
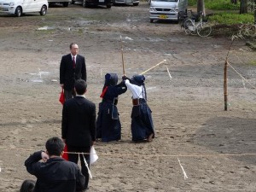
<svg viewBox="0 0 256 192">
<path fill-rule="evenodd" d="M 64 103 L 61 122 L 61 135 L 67 144 L 67 151 L 75 152 L 68 154 L 68 160 L 78 163 L 80 158 L 82 173 L 85 176 L 85 189 L 89 183 L 89 172 L 84 158 L 89 166 L 90 147 L 96 141 L 96 105 L 84 97 L 86 87 L 83 79 L 75 82 L 76 96 Z"/>
</svg>

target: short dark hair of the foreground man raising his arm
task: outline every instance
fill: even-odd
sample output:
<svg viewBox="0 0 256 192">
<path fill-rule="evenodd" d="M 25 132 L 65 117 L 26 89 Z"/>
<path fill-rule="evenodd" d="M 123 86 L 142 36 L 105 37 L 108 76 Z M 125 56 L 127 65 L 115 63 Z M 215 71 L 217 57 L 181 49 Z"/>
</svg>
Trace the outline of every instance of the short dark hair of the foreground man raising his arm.
<svg viewBox="0 0 256 192">
<path fill-rule="evenodd" d="M 49 155 L 60 156 L 64 150 L 65 143 L 59 137 L 51 137 L 45 143 Z"/>
</svg>

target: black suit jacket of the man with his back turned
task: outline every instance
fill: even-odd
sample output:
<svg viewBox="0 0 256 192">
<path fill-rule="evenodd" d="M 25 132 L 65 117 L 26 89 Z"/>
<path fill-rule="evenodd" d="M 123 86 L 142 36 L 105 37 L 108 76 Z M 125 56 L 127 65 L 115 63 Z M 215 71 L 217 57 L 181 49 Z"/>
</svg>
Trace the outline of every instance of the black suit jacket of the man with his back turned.
<svg viewBox="0 0 256 192">
<path fill-rule="evenodd" d="M 96 141 L 96 105 L 84 96 L 67 100 L 62 109 L 61 135 L 67 146 L 90 147 Z"/>
</svg>

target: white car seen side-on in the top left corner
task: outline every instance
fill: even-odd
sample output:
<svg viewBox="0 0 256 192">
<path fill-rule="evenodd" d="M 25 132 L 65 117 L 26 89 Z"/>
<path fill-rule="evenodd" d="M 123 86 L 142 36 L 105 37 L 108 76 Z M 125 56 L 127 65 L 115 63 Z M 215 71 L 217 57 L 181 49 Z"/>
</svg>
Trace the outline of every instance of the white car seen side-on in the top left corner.
<svg viewBox="0 0 256 192">
<path fill-rule="evenodd" d="M 0 13 L 14 14 L 17 17 L 34 12 L 46 15 L 47 9 L 47 0 L 0 0 Z"/>
</svg>

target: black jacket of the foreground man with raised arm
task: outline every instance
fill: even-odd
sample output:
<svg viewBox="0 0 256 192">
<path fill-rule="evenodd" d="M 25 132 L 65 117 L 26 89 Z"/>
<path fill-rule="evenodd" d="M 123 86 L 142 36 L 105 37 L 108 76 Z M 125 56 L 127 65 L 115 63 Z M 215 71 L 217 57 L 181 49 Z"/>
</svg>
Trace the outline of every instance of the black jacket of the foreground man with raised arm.
<svg viewBox="0 0 256 192">
<path fill-rule="evenodd" d="M 61 157 L 40 162 L 41 153 L 35 152 L 25 161 L 27 172 L 38 178 L 34 192 L 75 192 L 84 189 L 85 177 L 77 164 Z"/>
</svg>

